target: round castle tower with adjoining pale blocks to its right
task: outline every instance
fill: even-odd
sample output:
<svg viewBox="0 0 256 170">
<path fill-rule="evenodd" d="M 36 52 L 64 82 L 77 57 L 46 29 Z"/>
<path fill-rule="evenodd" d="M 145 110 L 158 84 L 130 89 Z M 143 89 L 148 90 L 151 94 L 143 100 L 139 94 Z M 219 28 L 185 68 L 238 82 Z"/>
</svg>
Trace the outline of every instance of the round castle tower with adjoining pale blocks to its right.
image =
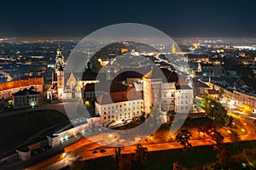
<svg viewBox="0 0 256 170">
<path fill-rule="evenodd" d="M 143 76 L 144 109 L 147 114 L 151 106 L 159 105 L 160 111 L 174 111 L 176 113 L 189 113 L 193 103 L 193 88 L 178 77 L 175 71 L 161 69 L 164 77 L 154 70 Z"/>
</svg>

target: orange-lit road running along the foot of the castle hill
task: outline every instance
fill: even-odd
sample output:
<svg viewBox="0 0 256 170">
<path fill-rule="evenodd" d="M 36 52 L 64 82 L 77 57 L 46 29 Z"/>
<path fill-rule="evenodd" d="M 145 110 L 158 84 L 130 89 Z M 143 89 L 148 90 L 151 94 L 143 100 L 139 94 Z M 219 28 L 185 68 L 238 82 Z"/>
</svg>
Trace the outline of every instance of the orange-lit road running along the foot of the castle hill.
<svg viewBox="0 0 256 170">
<path fill-rule="evenodd" d="M 240 138 L 242 141 L 244 140 L 253 140 L 256 139 L 256 126 L 253 123 L 252 119 L 249 119 L 247 116 L 240 116 L 241 124 L 246 128 L 247 133 L 245 135 L 241 135 Z M 104 141 L 106 142 L 106 141 Z M 103 143 L 104 143 L 103 142 Z M 230 137 L 224 138 L 224 143 L 231 143 Z M 212 144 L 212 139 L 195 139 L 190 140 L 190 143 L 192 146 L 202 146 L 202 145 L 209 145 Z M 183 147 L 178 144 L 177 142 L 172 143 L 163 143 L 163 144 L 143 144 L 143 146 L 148 148 L 148 151 L 159 151 L 159 150 L 173 150 L 173 149 L 182 149 Z M 99 150 L 104 149 L 106 152 L 103 153 L 95 153 L 93 154 L 91 150 Z M 125 146 L 121 150 L 121 154 L 131 154 L 134 153 L 134 150 L 136 149 L 136 146 Z M 49 167 L 44 167 L 44 170 L 54 170 L 61 167 L 66 167 L 67 165 L 72 164 L 73 161 L 75 161 L 77 158 L 79 160 L 90 160 L 97 157 L 102 156 L 113 156 L 115 148 L 108 147 L 108 146 L 102 146 L 100 144 L 91 144 L 91 145 L 84 145 L 82 147 L 79 147 L 76 150 L 73 150 L 69 153 L 67 153 L 67 156 L 65 159 L 55 162 L 54 164 L 50 165 Z"/>
</svg>

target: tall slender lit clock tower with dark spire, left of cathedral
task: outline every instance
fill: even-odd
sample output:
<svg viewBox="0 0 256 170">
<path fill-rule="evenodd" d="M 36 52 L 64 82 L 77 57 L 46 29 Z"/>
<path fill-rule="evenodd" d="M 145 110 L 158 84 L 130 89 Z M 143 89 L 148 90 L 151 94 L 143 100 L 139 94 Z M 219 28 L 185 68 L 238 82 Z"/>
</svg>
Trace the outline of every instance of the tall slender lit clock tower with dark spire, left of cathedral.
<svg viewBox="0 0 256 170">
<path fill-rule="evenodd" d="M 57 48 L 55 58 L 55 73 L 57 75 L 58 99 L 63 99 L 64 90 L 64 56 L 61 54 L 61 48 Z"/>
</svg>

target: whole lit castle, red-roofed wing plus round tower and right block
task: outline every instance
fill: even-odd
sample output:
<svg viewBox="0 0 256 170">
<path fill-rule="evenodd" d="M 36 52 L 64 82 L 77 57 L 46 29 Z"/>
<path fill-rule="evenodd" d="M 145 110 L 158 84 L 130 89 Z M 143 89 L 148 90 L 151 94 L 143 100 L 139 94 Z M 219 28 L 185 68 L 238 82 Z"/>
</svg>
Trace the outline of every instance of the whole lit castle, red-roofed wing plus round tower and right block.
<svg viewBox="0 0 256 170">
<path fill-rule="evenodd" d="M 159 107 L 161 113 L 189 113 L 193 103 L 193 88 L 182 77 L 179 78 L 176 72 L 168 69 L 161 71 L 163 75 L 154 70 L 145 74 L 139 88 L 135 83 L 136 86 L 130 85 L 124 92 L 104 93 L 97 98 L 96 114 L 102 117 L 102 125 L 108 127 L 132 120 L 143 113 L 150 114 L 153 106 Z"/>
</svg>

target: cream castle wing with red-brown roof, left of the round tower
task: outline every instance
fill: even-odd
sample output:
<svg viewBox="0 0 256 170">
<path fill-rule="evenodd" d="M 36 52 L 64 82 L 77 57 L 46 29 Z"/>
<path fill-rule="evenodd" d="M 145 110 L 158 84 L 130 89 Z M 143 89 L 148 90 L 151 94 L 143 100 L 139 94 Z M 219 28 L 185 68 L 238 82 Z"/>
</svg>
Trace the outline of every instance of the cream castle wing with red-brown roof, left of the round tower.
<svg viewBox="0 0 256 170">
<path fill-rule="evenodd" d="M 102 126 L 119 126 L 143 115 L 143 95 L 135 88 L 125 92 L 102 94 L 96 100 L 96 114 L 102 118 Z"/>
</svg>

